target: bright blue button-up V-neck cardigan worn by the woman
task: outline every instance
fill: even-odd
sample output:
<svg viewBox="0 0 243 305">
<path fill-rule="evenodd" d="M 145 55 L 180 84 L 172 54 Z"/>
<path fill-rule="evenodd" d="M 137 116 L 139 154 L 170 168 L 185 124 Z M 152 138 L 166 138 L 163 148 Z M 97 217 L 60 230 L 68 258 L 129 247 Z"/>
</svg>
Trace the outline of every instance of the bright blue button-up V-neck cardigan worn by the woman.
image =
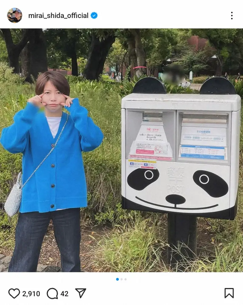
<svg viewBox="0 0 243 305">
<path fill-rule="evenodd" d="M 70 112 L 68 122 L 55 149 L 24 186 L 20 213 L 87 206 L 82 151 L 97 148 L 103 134 L 77 98 L 65 108 Z M 45 113 L 28 102 L 15 114 L 14 123 L 2 130 L 2 146 L 11 153 L 23 153 L 23 183 L 51 150 L 66 118 L 67 114 L 63 112 L 59 130 L 53 138 Z"/>
</svg>

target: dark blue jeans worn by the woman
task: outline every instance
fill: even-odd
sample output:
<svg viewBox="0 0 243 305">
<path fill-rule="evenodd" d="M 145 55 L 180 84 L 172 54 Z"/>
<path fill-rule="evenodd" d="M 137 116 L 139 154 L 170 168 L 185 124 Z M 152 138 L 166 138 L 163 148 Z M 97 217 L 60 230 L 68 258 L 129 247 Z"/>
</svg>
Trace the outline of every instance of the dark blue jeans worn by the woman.
<svg viewBox="0 0 243 305">
<path fill-rule="evenodd" d="M 80 272 L 80 208 L 48 213 L 19 213 L 9 272 L 36 272 L 50 219 L 61 254 L 61 271 Z"/>
</svg>

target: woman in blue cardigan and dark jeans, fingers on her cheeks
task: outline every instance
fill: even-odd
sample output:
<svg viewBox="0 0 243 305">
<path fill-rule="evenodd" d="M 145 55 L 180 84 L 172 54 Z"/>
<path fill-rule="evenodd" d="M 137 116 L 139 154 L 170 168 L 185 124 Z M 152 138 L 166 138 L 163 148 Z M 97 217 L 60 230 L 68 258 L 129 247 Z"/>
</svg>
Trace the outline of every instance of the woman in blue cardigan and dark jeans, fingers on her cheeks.
<svg viewBox="0 0 243 305">
<path fill-rule="evenodd" d="M 80 208 L 87 206 L 82 152 L 99 147 L 103 134 L 78 98 L 69 97 L 70 87 L 61 73 L 40 74 L 35 91 L 0 139 L 7 151 L 23 153 L 23 184 L 55 146 L 67 120 L 63 107 L 70 117 L 57 146 L 23 188 L 9 272 L 36 272 L 50 219 L 62 272 L 80 272 Z"/>
</svg>

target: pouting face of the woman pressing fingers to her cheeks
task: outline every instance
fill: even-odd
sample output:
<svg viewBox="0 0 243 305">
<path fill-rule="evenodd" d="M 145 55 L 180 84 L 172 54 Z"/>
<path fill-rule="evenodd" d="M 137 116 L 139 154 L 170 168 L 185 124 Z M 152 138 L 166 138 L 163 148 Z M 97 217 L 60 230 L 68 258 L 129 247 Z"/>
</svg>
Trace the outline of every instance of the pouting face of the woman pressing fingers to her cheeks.
<svg viewBox="0 0 243 305">
<path fill-rule="evenodd" d="M 42 101 L 47 104 L 45 108 L 50 112 L 60 112 L 63 107 L 60 103 L 66 101 L 66 98 L 61 94 L 61 92 L 50 81 L 48 81 L 45 84 L 43 93 Z"/>
</svg>

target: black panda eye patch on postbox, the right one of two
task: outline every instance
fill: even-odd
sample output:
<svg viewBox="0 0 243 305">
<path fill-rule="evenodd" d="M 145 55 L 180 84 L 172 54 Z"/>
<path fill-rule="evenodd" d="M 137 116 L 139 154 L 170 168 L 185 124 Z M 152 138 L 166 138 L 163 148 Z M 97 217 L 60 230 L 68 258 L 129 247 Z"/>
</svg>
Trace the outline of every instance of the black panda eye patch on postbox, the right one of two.
<svg viewBox="0 0 243 305">
<path fill-rule="evenodd" d="M 213 198 L 222 197 L 229 190 L 224 179 L 206 170 L 197 170 L 193 174 L 193 181 Z"/>
</svg>

